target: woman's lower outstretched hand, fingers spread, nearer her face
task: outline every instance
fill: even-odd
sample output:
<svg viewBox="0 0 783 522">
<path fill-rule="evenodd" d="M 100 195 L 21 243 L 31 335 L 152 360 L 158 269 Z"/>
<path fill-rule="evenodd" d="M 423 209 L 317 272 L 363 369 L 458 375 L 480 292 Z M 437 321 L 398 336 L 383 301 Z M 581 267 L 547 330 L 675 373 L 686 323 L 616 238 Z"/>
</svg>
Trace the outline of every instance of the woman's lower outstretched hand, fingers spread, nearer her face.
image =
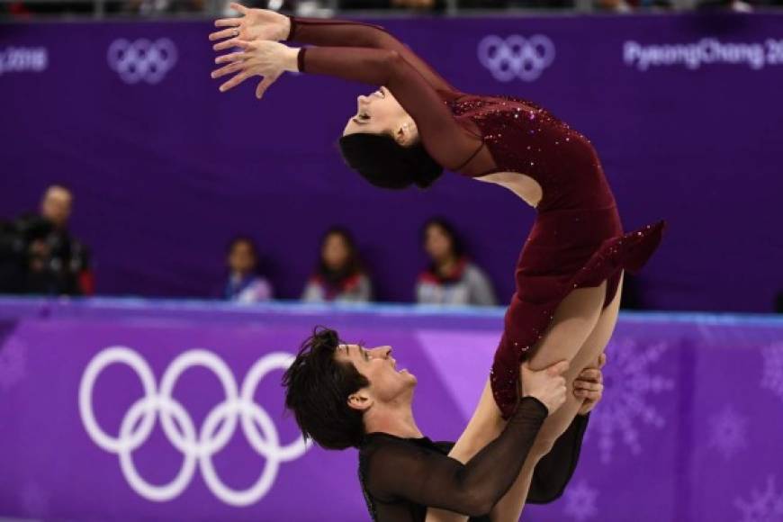
<svg viewBox="0 0 783 522">
<path fill-rule="evenodd" d="M 274 84 L 285 71 L 298 70 L 296 58 L 299 49 L 267 40 L 236 40 L 233 45 L 244 50 L 215 58 L 216 64 L 228 65 L 212 71 L 213 78 L 234 75 L 228 82 L 220 85 L 221 93 L 236 87 L 250 76 L 264 76 L 256 87 L 256 97 L 261 99 L 269 85 Z"/>
</svg>

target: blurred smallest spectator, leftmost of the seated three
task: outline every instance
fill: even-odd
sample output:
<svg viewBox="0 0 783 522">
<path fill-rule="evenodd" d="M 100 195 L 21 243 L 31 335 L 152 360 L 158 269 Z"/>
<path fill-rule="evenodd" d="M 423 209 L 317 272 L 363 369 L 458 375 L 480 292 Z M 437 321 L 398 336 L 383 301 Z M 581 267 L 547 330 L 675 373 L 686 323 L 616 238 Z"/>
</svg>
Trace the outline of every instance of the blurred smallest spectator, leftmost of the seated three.
<svg viewBox="0 0 783 522">
<path fill-rule="evenodd" d="M 234 238 L 229 243 L 229 281 L 223 297 L 233 302 L 261 302 L 272 299 L 272 285 L 258 275 L 258 250 L 253 239 Z"/>
</svg>

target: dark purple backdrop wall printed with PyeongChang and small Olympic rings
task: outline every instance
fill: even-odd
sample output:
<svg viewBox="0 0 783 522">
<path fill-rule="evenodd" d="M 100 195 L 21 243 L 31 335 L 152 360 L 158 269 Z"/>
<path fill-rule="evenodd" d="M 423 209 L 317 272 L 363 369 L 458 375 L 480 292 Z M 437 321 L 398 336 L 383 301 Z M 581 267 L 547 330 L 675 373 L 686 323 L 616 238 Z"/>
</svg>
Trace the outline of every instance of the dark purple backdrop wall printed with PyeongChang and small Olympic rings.
<svg viewBox="0 0 783 522">
<path fill-rule="evenodd" d="M 640 281 L 647 307 L 771 311 L 783 290 L 783 14 L 383 24 L 464 91 L 529 98 L 585 133 L 626 229 L 669 220 Z M 341 223 L 377 298 L 410 302 L 426 263 L 419 227 L 443 214 L 508 302 L 533 211 L 456 175 L 426 193 L 374 189 L 334 146 L 367 86 L 286 75 L 262 102 L 251 82 L 220 94 L 212 29 L 0 25 L 0 99 L 13 101 L 0 110 L 0 216 L 64 181 L 99 293 L 187 297 L 219 292 L 226 243 L 246 233 L 276 295 L 296 298 L 321 233 Z"/>
</svg>

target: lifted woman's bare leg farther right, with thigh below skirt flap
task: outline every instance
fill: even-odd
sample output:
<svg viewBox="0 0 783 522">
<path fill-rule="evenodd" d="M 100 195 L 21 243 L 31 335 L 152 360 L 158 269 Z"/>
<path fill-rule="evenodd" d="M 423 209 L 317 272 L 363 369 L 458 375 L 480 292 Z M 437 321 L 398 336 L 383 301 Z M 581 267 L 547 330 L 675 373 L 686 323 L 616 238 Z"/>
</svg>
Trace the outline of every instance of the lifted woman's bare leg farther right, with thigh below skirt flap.
<svg viewBox="0 0 783 522">
<path fill-rule="evenodd" d="M 617 293 L 608 307 L 601 311 L 595 329 L 590 332 L 590 336 L 585 340 L 579 354 L 574 357 L 571 368 L 569 368 L 569 371 L 566 373 L 569 390 L 572 390 L 573 380 L 581 374 L 581 371 L 585 367 L 598 365 L 598 358 L 607 347 L 609 339 L 612 337 L 615 326 L 617 325 L 617 315 L 620 310 L 620 293 L 622 292 L 622 289 L 623 275 L 620 275 Z M 536 352 L 536 356 L 538 355 L 544 355 L 543 351 Z M 548 356 L 539 357 L 538 360 L 536 360 L 536 356 L 533 356 L 533 359 L 531 359 L 531 366 L 534 368 L 539 366 L 545 367 L 549 364 L 550 359 Z M 552 361 L 554 361 L 554 359 L 552 359 Z M 583 400 L 578 399 L 572 393 L 569 393 L 563 407 L 561 407 L 560 410 L 555 411 L 553 416 L 546 419 L 544 427 L 542 427 L 541 432 L 539 432 L 536 443 L 527 457 L 517 481 L 514 482 L 514 485 L 511 486 L 509 492 L 506 493 L 500 502 L 498 502 L 495 509 L 492 509 L 492 520 L 497 522 L 516 522 L 519 520 L 522 509 L 525 507 L 527 491 L 530 490 L 530 482 L 533 480 L 533 471 L 536 468 L 536 464 L 544 455 L 549 453 L 554 444 L 554 440 L 560 436 L 557 435 L 557 437 L 554 437 L 553 439 L 553 435 L 563 434 L 561 428 L 563 428 L 563 426 L 568 428 L 568 426 L 571 425 L 573 417 L 581 407 L 582 401 Z M 541 441 L 540 443 L 539 439 Z"/>
</svg>

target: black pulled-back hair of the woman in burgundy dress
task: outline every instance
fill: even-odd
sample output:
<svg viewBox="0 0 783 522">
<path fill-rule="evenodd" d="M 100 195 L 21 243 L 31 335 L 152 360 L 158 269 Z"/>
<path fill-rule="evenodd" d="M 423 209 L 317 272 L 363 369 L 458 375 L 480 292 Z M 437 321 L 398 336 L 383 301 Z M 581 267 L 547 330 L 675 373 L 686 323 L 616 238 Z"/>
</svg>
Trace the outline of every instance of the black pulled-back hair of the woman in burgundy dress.
<svg viewBox="0 0 783 522">
<path fill-rule="evenodd" d="M 340 138 L 339 146 L 347 166 L 381 188 L 428 188 L 443 174 L 420 142 L 403 147 L 391 136 L 357 132 Z"/>
</svg>

